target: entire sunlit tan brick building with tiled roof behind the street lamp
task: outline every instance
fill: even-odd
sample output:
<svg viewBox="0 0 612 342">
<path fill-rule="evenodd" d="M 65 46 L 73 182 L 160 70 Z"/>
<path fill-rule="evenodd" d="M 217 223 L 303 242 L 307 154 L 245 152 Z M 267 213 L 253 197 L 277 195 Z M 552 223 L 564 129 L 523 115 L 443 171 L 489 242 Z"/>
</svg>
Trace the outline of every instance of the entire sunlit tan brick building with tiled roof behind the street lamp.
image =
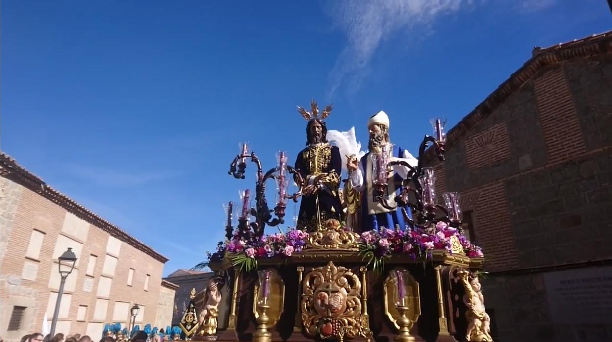
<svg viewBox="0 0 612 342">
<path fill-rule="evenodd" d="M 78 260 L 65 283 L 56 332 L 97 340 L 108 322 L 170 324 L 176 286 L 162 281 L 168 259 L 1 155 L 0 333 L 6 341 L 40 332 L 53 318 L 57 258 Z"/>
</svg>

